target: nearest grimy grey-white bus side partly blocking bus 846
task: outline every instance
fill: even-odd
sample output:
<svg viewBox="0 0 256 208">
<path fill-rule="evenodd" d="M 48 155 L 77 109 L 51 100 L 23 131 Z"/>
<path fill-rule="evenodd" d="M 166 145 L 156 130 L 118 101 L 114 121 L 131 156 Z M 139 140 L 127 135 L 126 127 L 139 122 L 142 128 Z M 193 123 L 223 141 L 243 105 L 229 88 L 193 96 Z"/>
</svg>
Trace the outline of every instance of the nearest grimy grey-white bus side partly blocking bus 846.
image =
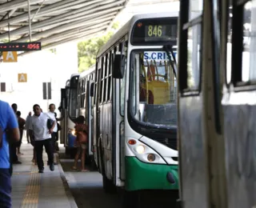
<svg viewBox="0 0 256 208">
<path fill-rule="evenodd" d="M 182 208 L 256 207 L 255 3 L 181 1 Z"/>
</svg>

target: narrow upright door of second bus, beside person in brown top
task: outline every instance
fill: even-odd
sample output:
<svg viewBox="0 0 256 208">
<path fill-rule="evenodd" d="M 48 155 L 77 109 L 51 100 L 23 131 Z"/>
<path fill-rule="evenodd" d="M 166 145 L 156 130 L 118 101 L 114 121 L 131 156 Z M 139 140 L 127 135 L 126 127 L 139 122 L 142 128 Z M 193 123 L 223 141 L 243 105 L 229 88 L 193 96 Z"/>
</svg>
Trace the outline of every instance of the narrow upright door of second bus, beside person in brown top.
<svg viewBox="0 0 256 208">
<path fill-rule="evenodd" d="M 91 97 L 91 90 L 93 89 L 93 83 L 94 81 L 89 80 L 86 82 L 86 126 L 88 126 L 88 154 L 93 155 L 94 147 L 93 147 L 93 115 L 92 115 L 92 100 Z"/>
</svg>

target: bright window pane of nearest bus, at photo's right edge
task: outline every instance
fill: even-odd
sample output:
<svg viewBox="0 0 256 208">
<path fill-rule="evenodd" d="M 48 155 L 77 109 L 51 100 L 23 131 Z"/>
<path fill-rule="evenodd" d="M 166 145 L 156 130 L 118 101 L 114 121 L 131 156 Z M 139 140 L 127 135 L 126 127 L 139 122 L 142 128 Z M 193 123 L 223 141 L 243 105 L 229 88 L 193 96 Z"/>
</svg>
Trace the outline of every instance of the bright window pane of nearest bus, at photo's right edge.
<svg viewBox="0 0 256 208">
<path fill-rule="evenodd" d="M 256 81 L 256 1 L 246 2 L 243 15 L 242 81 Z"/>
</svg>

